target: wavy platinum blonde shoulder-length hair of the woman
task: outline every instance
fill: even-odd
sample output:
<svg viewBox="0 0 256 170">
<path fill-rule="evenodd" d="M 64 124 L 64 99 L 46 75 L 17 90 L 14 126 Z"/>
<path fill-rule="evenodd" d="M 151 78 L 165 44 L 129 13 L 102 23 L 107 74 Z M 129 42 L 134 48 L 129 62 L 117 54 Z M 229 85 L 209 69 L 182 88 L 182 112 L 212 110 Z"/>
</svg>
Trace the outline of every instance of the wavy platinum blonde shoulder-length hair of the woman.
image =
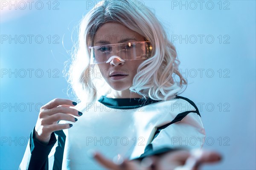
<svg viewBox="0 0 256 170">
<path fill-rule="evenodd" d="M 102 77 L 95 76 L 97 65 L 89 64 L 89 47 L 93 46 L 96 30 L 107 22 L 121 23 L 151 42 L 151 57 L 137 68 L 130 91 L 144 98 L 166 100 L 174 98 L 183 85 L 187 85 L 178 71 L 180 61 L 175 46 L 168 40 L 165 30 L 150 9 L 138 6 L 136 2 L 103 0 L 79 22 L 78 40 L 71 53 L 72 61 L 67 61 L 64 68 L 72 93 L 76 95 L 75 101 L 95 102 L 99 96 L 111 91 Z M 174 74 L 179 81 L 175 81 Z"/>
</svg>

